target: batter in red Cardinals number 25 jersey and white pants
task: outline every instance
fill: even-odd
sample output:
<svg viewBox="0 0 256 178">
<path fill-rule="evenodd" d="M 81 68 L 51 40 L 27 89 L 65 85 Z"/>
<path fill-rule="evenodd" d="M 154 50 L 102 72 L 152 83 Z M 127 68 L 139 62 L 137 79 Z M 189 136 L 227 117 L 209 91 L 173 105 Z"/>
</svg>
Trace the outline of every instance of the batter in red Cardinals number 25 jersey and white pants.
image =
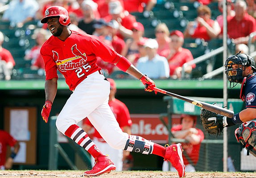
<svg viewBox="0 0 256 178">
<path fill-rule="evenodd" d="M 52 36 L 42 45 L 41 55 L 45 63 L 45 105 L 41 115 L 48 121 L 57 93 L 57 69 L 73 91 L 59 113 L 57 129 L 82 146 L 95 158 L 92 170 L 85 176 L 97 176 L 116 170 L 111 159 L 104 155 L 87 133 L 77 123 L 88 117 L 103 139 L 114 149 L 142 154 L 156 154 L 172 162 L 180 177 L 185 176 L 180 143 L 168 147 L 150 142 L 145 138 L 124 133 L 108 105 L 110 84 L 96 65 L 96 57 L 115 64 L 145 85 L 145 91 L 153 91 L 155 83 L 138 71 L 130 61 L 116 53 L 96 36 L 71 31 L 70 17 L 65 8 L 51 6 L 45 10 L 41 23 L 47 23 Z"/>
</svg>

